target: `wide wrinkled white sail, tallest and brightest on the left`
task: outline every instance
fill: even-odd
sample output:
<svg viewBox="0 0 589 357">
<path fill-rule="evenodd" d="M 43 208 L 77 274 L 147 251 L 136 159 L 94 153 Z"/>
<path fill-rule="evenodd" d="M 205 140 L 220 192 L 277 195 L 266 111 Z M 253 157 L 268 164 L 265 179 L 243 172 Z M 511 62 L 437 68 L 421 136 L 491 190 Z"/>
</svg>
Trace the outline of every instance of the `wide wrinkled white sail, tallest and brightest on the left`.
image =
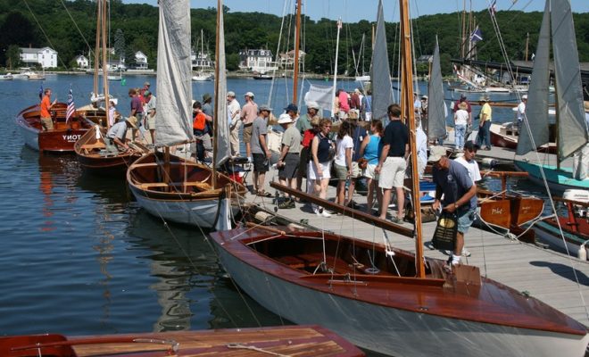
<svg viewBox="0 0 589 357">
<path fill-rule="evenodd" d="M 157 46 L 156 145 L 192 140 L 190 2 L 160 0 Z"/>
</svg>

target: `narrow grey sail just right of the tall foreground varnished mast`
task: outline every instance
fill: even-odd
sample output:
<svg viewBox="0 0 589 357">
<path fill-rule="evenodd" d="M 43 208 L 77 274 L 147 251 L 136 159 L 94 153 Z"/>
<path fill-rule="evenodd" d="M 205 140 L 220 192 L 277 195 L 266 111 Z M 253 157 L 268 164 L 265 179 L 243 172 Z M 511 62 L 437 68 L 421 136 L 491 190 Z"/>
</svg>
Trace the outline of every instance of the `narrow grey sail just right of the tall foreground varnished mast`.
<svg viewBox="0 0 589 357">
<path fill-rule="evenodd" d="M 440 47 L 437 43 L 432 60 L 432 71 L 427 87 L 427 137 L 435 140 L 446 135 L 446 111 L 444 104 L 444 83 L 440 67 Z"/>
</svg>

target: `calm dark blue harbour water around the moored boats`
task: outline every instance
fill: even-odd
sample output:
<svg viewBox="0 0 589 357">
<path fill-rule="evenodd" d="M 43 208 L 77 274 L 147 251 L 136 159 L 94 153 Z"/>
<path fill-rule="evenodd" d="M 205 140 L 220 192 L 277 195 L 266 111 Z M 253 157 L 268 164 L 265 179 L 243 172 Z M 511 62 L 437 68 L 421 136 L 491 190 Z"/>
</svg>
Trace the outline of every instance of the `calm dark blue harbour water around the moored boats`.
<svg viewBox="0 0 589 357">
<path fill-rule="evenodd" d="M 157 95 L 154 77 L 129 77 L 124 87 L 112 85 L 111 93 L 120 98 L 120 112 L 129 113 L 129 87 L 142 87 L 145 80 Z M 356 86 L 340 83 L 347 89 Z M 75 156 L 40 155 L 23 147 L 13 118 L 36 103 L 40 84 L 0 82 L 1 335 L 284 323 L 237 292 L 220 269 L 212 246 L 196 229 L 168 228 L 142 212 L 131 201 L 123 179 L 88 176 Z M 212 85 L 195 83 L 195 97 L 212 93 Z M 87 104 L 92 78 L 48 76 L 43 86 L 52 87 L 61 101 L 72 87 L 76 103 L 82 105 Z M 290 87 L 278 81 L 274 108 L 289 102 Z M 270 81 L 229 79 L 228 89 L 236 91 L 238 99 L 251 90 L 258 103 L 266 103 Z M 424 87 L 421 90 L 425 93 Z M 511 120 L 510 111 L 507 114 Z"/>
</svg>

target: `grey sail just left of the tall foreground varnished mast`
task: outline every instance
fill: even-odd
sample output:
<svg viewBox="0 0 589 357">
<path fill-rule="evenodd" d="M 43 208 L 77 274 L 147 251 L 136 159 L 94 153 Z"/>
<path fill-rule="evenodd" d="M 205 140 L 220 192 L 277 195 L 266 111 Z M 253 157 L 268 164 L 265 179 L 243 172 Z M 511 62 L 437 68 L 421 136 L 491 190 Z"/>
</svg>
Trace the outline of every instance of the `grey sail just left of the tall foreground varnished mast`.
<svg viewBox="0 0 589 357">
<path fill-rule="evenodd" d="M 370 80 L 372 83 L 372 118 L 383 119 L 386 109 L 393 104 L 393 87 L 391 87 L 391 72 L 389 71 L 388 53 L 386 50 L 385 15 L 383 2 L 378 1 L 377 34 L 372 52 L 372 66 Z"/>
</svg>

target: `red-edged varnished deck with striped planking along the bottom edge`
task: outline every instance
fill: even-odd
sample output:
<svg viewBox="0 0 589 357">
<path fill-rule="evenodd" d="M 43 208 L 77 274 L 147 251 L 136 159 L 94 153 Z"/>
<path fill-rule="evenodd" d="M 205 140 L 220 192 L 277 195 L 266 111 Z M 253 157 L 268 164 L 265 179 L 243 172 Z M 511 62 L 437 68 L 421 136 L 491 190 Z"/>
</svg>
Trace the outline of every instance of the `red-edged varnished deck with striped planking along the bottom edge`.
<svg viewBox="0 0 589 357">
<path fill-rule="evenodd" d="M 236 328 L 106 336 L 56 334 L 0 337 L 4 357 L 90 356 L 363 356 L 357 347 L 319 326 Z"/>
</svg>

